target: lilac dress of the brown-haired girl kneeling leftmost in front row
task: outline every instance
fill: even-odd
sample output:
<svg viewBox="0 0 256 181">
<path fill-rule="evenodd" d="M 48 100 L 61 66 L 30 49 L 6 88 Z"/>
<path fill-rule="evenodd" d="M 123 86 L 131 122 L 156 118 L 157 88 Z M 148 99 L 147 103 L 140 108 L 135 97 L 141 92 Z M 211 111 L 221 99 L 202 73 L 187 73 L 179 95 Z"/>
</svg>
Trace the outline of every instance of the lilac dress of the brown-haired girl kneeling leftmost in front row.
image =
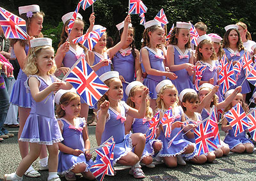
<svg viewBox="0 0 256 181">
<path fill-rule="evenodd" d="M 70 126 L 70 122 L 66 119 L 58 119 L 62 122 L 62 136 L 64 138 L 61 143 L 66 145 L 67 147 L 73 149 L 79 149 L 83 152 L 85 151 L 84 148 L 84 140 L 83 140 L 83 127 L 86 126 L 86 120 L 81 117 L 77 117 L 74 122 L 75 126 Z M 77 129 L 78 128 L 78 129 Z M 74 141 L 76 140 L 76 141 Z M 77 164 L 84 163 L 86 164 L 86 170 L 92 166 L 93 161 L 86 161 L 86 157 L 84 154 L 80 154 L 79 156 L 74 156 L 72 154 L 65 154 L 63 152 L 59 152 L 59 159 L 58 159 L 58 173 L 65 174 L 72 170 Z"/>
</svg>

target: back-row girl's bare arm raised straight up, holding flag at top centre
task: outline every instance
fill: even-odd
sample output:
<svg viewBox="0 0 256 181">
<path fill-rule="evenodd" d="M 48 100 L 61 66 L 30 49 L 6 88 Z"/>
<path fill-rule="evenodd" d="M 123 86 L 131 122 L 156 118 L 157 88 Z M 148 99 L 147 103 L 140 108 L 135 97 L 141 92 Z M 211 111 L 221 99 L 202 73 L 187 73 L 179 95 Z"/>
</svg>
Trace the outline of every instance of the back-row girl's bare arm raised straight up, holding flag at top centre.
<svg viewBox="0 0 256 181">
<path fill-rule="evenodd" d="M 115 55 L 116 52 L 118 52 L 118 50 L 120 50 L 124 46 L 125 41 L 127 40 L 128 25 L 129 25 L 129 23 L 131 23 L 131 15 L 128 14 L 127 17 L 124 20 L 124 31 L 122 33 L 120 42 L 117 43 L 114 47 L 109 48 L 107 50 L 107 53 L 108 53 L 109 57 L 112 58 L 113 55 Z"/>
</svg>

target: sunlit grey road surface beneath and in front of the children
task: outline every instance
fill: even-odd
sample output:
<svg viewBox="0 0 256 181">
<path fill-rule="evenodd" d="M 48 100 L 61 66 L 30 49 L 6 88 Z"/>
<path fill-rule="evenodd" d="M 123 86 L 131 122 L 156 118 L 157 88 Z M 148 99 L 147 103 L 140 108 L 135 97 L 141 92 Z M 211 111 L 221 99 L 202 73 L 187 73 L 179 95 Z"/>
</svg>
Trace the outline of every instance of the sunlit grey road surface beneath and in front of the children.
<svg viewBox="0 0 256 181">
<path fill-rule="evenodd" d="M 13 138 L 8 138 L 0 142 L 0 180 L 4 173 L 15 171 L 20 162 L 19 146 L 17 143 L 18 128 L 9 128 L 8 130 L 15 134 Z M 89 127 L 91 147 L 96 147 L 95 127 Z M 224 133 L 221 131 L 221 138 Z M 95 157 L 95 153 L 93 153 Z M 33 163 L 38 170 L 38 159 Z M 157 164 L 156 168 L 147 168 L 143 166 L 146 178 L 140 180 L 256 180 L 256 157 L 253 154 L 234 154 L 230 153 L 227 157 L 216 159 L 214 163 L 190 164 L 186 166 L 177 166 L 177 168 L 166 168 L 164 164 Z M 39 171 L 41 177 L 28 178 L 23 180 L 47 180 L 48 171 Z M 65 180 L 65 177 L 61 177 Z M 77 180 L 84 180 L 81 175 L 77 175 Z M 129 169 L 118 167 L 115 177 L 106 176 L 104 180 L 138 180 L 129 175 Z"/>
</svg>

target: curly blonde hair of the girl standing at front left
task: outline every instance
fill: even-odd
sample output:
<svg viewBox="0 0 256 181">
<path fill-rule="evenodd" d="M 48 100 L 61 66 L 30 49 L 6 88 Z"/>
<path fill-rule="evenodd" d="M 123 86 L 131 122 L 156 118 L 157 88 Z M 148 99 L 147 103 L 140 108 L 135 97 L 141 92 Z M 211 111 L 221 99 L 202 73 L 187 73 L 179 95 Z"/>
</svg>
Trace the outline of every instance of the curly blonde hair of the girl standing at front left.
<svg viewBox="0 0 256 181">
<path fill-rule="evenodd" d="M 50 46 L 40 46 L 40 47 L 30 48 L 29 54 L 28 54 L 28 60 L 25 62 L 25 66 L 23 69 L 26 75 L 38 74 L 36 59 L 38 57 L 38 54 L 40 54 L 41 50 L 43 49 L 50 49 L 52 50 L 52 52 L 54 52 L 54 49 Z M 56 71 L 56 68 L 57 67 L 56 67 L 55 61 L 53 61 L 52 68 L 47 72 L 47 75 L 52 75 Z"/>
</svg>

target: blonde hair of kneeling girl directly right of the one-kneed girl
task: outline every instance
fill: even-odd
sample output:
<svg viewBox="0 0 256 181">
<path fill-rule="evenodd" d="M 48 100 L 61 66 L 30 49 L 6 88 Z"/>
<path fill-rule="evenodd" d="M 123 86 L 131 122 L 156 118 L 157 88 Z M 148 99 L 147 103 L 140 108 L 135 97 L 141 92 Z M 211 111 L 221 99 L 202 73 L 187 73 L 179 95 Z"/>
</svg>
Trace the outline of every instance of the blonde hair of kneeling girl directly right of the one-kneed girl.
<svg viewBox="0 0 256 181">
<path fill-rule="evenodd" d="M 146 87 L 145 85 L 137 85 L 137 86 L 132 87 L 130 94 L 126 101 L 127 105 L 131 106 L 132 108 L 135 108 L 135 103 L 134 103 L 134 101 L 131 100 L 131 98 L 134 98 L 134 96 L 136 95 L 136 91 L 143 90 L 145 87 Z M 151 119 L 153 117 L 153 114 L 152 114 L 152 111 L 150 111 L 151 109 L 150 109 L 149 105 L 150 105 L 150 101 L 149 101 L 149 99 L 147 99 L 145 117 L 148 117 Z"/>
</svg>

